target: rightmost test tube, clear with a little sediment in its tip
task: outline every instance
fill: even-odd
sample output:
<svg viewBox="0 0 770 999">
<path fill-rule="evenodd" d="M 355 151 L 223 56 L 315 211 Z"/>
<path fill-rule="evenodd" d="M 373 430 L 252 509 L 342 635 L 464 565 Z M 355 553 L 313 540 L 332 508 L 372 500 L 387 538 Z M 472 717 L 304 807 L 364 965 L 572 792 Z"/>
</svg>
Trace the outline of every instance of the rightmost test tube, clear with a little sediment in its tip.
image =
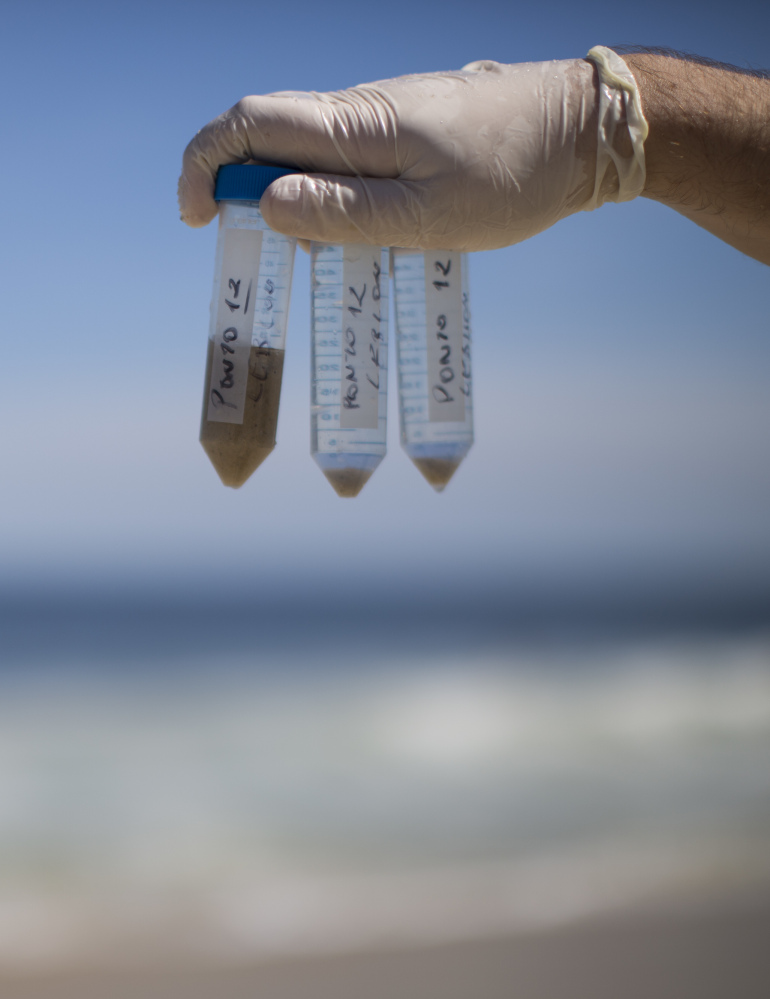
<svg viewBox="0 0 770 999">
<path fill-rule="evenodd" d="M 473 444 L 467 257 L 392 252 L 401 446 L 441 492 Z"/>
</svg>

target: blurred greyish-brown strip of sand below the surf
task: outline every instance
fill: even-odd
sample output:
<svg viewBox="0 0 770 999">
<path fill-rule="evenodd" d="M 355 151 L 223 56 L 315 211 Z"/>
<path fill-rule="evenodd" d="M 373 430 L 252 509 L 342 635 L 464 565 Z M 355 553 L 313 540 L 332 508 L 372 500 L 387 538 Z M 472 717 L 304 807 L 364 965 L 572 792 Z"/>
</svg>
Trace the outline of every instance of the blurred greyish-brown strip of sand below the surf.
<svg viewBox="0 0 770 999">
<path fill-rule="evenodd" d="M 250 967 L 73 973 L 2 999 L 766 999 L 770 891 L 544 932 Z"/>
</svg>

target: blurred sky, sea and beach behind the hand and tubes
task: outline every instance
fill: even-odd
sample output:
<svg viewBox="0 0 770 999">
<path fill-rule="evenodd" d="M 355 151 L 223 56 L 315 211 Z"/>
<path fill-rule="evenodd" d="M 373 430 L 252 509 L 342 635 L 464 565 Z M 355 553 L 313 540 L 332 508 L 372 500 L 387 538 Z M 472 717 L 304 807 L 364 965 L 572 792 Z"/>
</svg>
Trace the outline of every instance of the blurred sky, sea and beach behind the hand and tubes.
<svg viewBox="0 0 770 999">
<path fill-rule="evenodd" d="M 715 953 L 750 968 L 726 927 L 770 912 L 767 268 L 644 199 L 474 255 L 477 443 L 435 494 L 393 392 L 389 455 L 343 501 L 309 456 L 298 254 L 279 446 L 232 492 L 197 441 L 216 234 L 175 195 L 244 94 L 599 43 L 767 67 L 770 10 L 2 13 L 3 999 L 158 969 L 142 995 L 246 969 L 232 995 L 597 999 L 606 964 L 576 971 L 564 934 L 598 926 L 602 954 L 629 913 L 640 947 L 696 927 L 679 996 Z M 535 940 L 556 970 L 527 992 Z"/>
</svg>

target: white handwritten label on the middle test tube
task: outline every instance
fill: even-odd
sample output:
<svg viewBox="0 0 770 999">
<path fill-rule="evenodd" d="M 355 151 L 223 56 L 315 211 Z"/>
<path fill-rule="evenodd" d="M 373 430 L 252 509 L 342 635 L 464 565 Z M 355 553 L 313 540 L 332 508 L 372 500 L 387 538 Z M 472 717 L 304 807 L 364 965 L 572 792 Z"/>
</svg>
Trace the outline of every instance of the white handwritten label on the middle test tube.
<svg viewBox="0 0 770 999">
<path fill-rule="evenodd" d="M 377 429 L 380 377 L 387 365 L 387 339 L 380 302 L 382 251 L 346 246 L 342 263 L 342 371 L 340 427 Z"/>
</svg>

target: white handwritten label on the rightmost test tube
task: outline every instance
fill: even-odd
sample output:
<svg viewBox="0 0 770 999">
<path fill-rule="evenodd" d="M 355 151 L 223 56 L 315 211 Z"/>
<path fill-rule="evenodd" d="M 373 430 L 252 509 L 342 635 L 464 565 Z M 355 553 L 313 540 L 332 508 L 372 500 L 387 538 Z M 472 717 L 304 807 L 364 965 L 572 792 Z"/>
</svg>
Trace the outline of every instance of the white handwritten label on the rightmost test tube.
<svg viewBox="0 0 770 999">
<path fill-rule="evenodd" d="M 432 423 L 462 423 L 470 396 L 470 312 L 459 253 L 425 254 L 428 413 Z"/>
</svg>

